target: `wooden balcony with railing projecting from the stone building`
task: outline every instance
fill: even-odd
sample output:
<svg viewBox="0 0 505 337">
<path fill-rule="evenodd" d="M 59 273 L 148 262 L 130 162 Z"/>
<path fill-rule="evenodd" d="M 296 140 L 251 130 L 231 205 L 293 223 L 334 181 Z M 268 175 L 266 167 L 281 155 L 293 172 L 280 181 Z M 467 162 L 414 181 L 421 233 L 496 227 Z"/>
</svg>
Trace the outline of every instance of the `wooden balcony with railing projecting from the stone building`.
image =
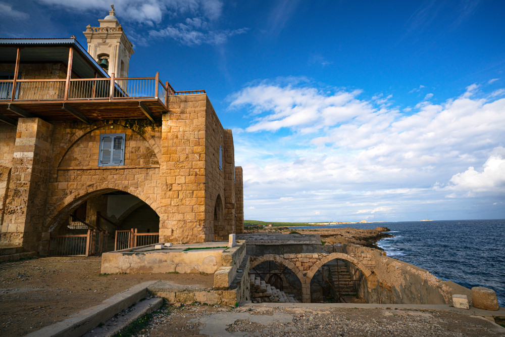
<svg viewBox="0 0 505 337">
<path fill-rule="evenodd" d="M 0 121 L 16 125 L 19 117 L 46 121 L 96 119 L 161 120 L 175 91 L 155 77 L 0 80 Z"/>
</svg>

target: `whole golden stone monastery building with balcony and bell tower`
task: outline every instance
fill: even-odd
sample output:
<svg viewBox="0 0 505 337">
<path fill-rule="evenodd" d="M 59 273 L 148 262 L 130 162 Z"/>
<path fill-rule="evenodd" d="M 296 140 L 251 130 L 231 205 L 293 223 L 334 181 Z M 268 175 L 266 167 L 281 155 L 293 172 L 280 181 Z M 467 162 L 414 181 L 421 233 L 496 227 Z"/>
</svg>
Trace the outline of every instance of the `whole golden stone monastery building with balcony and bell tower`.
<svg viewBox="0 0 505 337">
<path fill-rule="evenodd" d="M 205 90 L 128 77 L 114 7 L 71 38 L 0 38 L 0 245 L 116 230 L 199 243 L 243 231 L 242 168 Z M 158 237 L 157 237 L 158 238 Z"/>
</svg>

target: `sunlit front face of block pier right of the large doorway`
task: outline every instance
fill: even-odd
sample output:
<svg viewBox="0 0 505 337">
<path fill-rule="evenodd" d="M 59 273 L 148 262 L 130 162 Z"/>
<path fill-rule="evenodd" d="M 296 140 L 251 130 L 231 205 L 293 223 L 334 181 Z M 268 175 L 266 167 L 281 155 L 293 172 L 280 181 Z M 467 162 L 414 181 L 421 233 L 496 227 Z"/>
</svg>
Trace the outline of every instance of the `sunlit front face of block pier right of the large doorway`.
<svg viewBox="0 0 505 337">
<path fill-rule="evenodd" d="M 161 174 L 167 193 L 161 200 L 168 221 L 160 226 L 160 240 L 175 243 L 213 239 L 206 223 L 206 102 L 207 95 L 169 98 L 163 115 Z"/>
</svg>

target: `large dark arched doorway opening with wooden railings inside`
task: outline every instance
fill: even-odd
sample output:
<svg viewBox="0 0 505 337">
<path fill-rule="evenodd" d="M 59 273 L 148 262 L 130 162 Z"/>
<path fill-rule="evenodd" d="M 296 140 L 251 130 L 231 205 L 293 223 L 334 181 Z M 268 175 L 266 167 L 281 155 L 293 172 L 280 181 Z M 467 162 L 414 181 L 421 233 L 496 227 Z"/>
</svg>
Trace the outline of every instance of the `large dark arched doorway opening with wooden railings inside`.
<svg viewBox="0 0 505 337">
<path fill-rule="evenodd" d="M 160 216 L 138 197 L 105 188 L 84 194 L 62 207 L 48 229 L 50 255 L 96 254 L 158 243 Z M 90 240 L 90 233 L 94 241 L 84 254 L 83 246 L 90 244 L 83 236 L 87 234 Z"/>
</svg>

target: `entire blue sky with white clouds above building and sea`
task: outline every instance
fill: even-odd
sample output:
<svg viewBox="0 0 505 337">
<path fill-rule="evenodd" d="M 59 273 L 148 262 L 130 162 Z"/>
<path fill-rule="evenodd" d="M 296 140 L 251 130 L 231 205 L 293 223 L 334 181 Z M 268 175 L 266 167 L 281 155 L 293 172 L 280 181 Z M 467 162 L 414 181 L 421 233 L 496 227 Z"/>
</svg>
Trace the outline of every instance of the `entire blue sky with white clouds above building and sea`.
<svg viewBox="0 0 505 337">
<path fill-rule="evenodd" d="M 86 46 L 111 3 L 0 0 L 0 36 Z M 233 130 L 245 219 L 505 218 L 505 2 L 113 3 L 129 76 Z"/>
</svg>

